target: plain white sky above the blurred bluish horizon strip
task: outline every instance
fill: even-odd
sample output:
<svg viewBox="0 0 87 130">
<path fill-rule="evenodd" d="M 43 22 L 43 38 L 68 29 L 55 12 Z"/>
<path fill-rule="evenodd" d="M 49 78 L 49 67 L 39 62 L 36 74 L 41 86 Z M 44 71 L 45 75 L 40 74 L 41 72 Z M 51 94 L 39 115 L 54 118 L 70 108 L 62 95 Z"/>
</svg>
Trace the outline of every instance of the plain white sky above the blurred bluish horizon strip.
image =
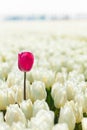
<svg viewBox="0 0 87 130">
<path fill-rule="evenodd" d="M 0 16 L 87 14 L 87 0 L 0 0 Z"/>
</svg>

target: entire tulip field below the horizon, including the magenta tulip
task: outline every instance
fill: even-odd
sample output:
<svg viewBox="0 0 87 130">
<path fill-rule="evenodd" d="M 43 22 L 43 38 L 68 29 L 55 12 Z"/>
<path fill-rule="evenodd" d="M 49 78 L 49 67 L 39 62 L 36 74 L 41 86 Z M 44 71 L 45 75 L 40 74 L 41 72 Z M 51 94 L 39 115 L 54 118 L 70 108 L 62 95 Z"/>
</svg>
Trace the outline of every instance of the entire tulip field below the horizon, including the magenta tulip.
<svg viewBox="0 0 87 130">
<path fill-rule="evenodd" d="M 0 130 L 87 130 L 87 20 L 0 22 Z"/>
</svg>

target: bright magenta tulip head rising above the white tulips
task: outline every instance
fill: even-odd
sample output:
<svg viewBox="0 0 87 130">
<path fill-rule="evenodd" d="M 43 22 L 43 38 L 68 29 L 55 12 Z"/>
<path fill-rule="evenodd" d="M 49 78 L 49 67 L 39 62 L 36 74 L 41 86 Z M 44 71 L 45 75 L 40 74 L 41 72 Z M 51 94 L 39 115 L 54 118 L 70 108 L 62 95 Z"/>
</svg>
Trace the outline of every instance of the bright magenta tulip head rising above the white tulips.
<svg viewBox="0 0 87 130">
<path fill-rule="evenodd" d="M 27 72 L 30 71 L 34 63 L 34 56 L 31 52 L 21 52 L 18 54 L 18 68 Z"/>
</svg>

